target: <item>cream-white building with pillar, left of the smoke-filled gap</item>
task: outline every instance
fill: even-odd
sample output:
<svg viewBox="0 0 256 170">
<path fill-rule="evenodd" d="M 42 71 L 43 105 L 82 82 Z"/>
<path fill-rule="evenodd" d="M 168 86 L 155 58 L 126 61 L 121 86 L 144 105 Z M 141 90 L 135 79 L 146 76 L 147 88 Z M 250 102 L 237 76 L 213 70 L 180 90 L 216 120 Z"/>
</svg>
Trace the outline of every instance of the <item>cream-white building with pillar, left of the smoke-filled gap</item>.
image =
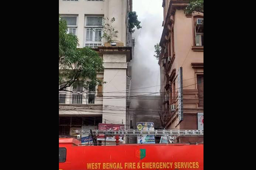
<svg viewBox="0 0 256 170">
<path fill-rule="evenodd" d="M 128 12 L 132 0 L 59 0 L 59 14 L 67 21 L 68 32 L 79 38 L 79 48 L 89 46 L 103 58 L 105 70 L 97 77 L 104 82 L 95 93 L 59 93 L 59 135 L 70 136 L 70 128 L 97 126 L 98 123 L 128 124 L 127 96 L 131 75 L 128 62 L 132 48 L 128 32 Z M 103 18 L 115 18 L 113 28 L 118 31 L 115 46 L 102 37 Z M 94 28 L 94 29 L 92 29 Z M 93 31 L 94 30 L 94 31 Z M 82 87 L 68 87 L 68 91 L 82 91 Z M 126 127 L 126 126 L 125 126 Z"/>
</svg>

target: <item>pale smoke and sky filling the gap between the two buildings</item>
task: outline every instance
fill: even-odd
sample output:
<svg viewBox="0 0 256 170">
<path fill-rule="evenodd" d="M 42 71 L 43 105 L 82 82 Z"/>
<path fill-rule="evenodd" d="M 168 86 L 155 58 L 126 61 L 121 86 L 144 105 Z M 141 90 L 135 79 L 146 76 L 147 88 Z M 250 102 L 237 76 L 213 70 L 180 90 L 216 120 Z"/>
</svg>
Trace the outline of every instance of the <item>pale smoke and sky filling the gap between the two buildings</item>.
<svg viewBox="0 0 256 170">
<path fill-rule="evenodd" d="M 137 95 L 134 92 L 159 92 L 160 71 L 154 57 L 154 45 L 160 42 L 163 31 L 162 0 L 133 0 L 133 11 L 137 12 L 142 28 L 133 34 L 135 48 L 131 60 L 131 89 L 143 89 L 132 90 L 131 96 Z M 157 87 L 145 88 L 149 86 Z"/>
</svg>

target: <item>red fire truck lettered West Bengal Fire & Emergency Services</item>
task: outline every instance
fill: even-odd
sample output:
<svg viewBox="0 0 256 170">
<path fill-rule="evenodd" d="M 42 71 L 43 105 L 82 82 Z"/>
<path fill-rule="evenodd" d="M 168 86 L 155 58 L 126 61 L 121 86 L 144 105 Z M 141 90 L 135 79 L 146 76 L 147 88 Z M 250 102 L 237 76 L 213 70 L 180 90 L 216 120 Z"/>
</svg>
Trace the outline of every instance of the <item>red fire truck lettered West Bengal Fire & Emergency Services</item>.
<svg viewBox="0 0 256 170">
<path fill-rule="evenodd" d="M 204 144 L 79 144 L 59 138 L 59 170 L 204 170 Z"/>
</svg>

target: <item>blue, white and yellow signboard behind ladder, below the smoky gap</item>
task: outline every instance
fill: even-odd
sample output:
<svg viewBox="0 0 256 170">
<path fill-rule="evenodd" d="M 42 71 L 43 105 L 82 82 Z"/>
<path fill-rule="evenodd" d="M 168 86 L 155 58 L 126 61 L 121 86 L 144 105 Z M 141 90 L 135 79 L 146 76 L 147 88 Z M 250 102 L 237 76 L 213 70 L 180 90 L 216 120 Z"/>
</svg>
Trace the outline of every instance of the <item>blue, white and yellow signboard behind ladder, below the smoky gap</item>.
<svg viewBox="0 0 256 170">
<path fill-rule="evenodd" d="M 154 122 L 137 122 L 138 130 L 154 130 Z M 154 135 L 141 135 L 137 137 L 138 144 L 155 143 Z"/>
</svg>

